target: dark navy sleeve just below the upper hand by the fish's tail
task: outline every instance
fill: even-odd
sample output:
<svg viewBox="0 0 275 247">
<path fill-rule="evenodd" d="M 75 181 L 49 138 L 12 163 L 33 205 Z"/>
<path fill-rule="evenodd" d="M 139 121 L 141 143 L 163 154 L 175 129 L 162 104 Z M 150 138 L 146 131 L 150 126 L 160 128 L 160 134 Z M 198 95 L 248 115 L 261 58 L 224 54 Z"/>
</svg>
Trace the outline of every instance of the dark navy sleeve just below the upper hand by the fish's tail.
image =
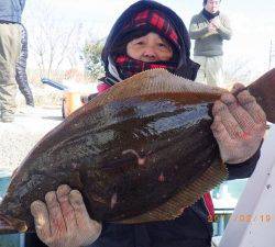
<svg viewBox="0 0 275 247">
<path fill-rule="evenodd" d="M 261 147 L 260 147 L 261 148 Z M 257 160 L 261 156 L 260 148 L 257 151 L 246 161 L 241 164 L 227 164 L 229 177 L 228 180 L 249 178 L 253 173 Z"/>
</svg>

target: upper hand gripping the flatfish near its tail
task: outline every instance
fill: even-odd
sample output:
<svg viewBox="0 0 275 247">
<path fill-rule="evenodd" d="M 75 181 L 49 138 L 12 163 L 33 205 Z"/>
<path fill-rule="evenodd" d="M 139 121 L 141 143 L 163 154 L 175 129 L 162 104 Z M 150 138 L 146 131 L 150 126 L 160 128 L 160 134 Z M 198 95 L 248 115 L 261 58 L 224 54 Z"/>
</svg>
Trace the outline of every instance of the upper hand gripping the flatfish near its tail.
<svg viewBox="0 0 275 247">
<path fill-rule="evenodd" d="M 232 93 L 224 93 L 212 108 L 211 130 L 224 162 L 240 164 L 251 158 L 261 145 L 266 116 L 244 86 L 235 85 Z M 241 91 L 241 92 L 240 92 Z"/>
</svg>

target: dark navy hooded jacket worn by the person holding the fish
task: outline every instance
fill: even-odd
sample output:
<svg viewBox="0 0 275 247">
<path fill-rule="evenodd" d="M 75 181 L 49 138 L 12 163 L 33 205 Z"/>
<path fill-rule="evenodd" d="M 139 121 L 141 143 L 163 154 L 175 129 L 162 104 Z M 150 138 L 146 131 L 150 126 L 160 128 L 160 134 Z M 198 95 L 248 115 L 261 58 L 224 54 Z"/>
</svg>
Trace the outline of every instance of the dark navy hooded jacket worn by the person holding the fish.
<svg viewBox="0 0 275 247">
<path fill-rule="evenodd" d="M 129 7 L 121 14 L 107 38 L 101 58 L 106 74 L 113 80 L 100 85 L 99 90 L 103 91 L 120 81 L 111 57 L 112 48 L 121 38 L 124 23 L 146 9 L 164 13 L 173 24 L 180 45 L 175 74 L 195 80 L 199 65 L 190 59 L 190 38 L 183 20 L 173 10 L 161 3 L 142 0 Z M 258 158 L 260 150 L 243 164 L 228 165 L 229 179 L 250 177 Z M 174 221 L 132 225 L 103 223 L 100 237 L 90 247 L 210 247 L 213 232 L 212 216 L 213 205 L 210 194 L 207 193 L 193 206 L 185 209 L 182 216 Z"/>
</svg>

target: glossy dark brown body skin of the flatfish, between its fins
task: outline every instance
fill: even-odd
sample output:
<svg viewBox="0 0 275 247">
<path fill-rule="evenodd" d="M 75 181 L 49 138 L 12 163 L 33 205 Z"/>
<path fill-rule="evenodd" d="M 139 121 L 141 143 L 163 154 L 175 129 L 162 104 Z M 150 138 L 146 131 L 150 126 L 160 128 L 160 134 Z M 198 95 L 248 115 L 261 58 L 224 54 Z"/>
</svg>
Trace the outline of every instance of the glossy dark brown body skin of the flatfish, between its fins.
<svg viewBox="0 0 275 247">
<path fill-rule="evenodd" d="M 113 102 L 63 123 L 24 160 L 1 214 L 32 231 L 30 204 L 66 183 L 81 191 L 92 218 L 120 221 L 155 207 L 195 180 L 219 159 L 209 131 L 211 103 L 195 104 L 194 96 L 150 98 Z"/>
</svg>

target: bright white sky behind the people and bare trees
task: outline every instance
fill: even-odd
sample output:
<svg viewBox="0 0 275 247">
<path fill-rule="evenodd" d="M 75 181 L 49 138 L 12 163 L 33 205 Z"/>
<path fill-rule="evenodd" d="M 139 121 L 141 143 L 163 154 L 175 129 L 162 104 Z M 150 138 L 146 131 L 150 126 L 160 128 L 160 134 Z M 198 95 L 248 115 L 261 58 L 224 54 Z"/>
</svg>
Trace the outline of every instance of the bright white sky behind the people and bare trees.
<svg viewBox="0 0 275 247">
<path fill-rule="evenodd" d="M 131 0 L 26 0 L 23 21 L 26 27 L 35 23 L 37 4 L 52 5 L 53 15 L 58 15 L 64 25 L 82 23 L 89 30 L 90 38 L 108 35 L 116 19 L 135 1 Z M 202 0 L 160 0 L 170 7 L 186 23 L 198 13 Z M 222 0 L 221 11 L 231 20 L 233 37 L 224 42 L 224 58 L 246 60 L 248 66 L 261 74 L 268 67 L 271 40 L 275 43 L 275 0 Z M 34 30 L 29 30 L 30 36 Z M 88 32 L 87 32 L 87 37 Z M 274 44 L 275 49 L 275 44 Z M 275 58 L 274 58 L 275 59 Z M 274 63 L 275 64 L 275 63 Z"/>
</svg>

